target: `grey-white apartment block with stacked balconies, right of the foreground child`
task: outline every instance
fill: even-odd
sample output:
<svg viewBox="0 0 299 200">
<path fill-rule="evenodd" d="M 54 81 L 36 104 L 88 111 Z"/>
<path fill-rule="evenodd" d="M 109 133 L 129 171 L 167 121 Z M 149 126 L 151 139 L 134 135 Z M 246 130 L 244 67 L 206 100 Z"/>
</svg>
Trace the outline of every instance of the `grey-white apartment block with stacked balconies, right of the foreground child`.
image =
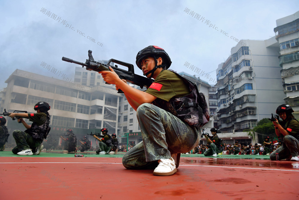
<svg viewBox="0 0 299 200">
<path fill-rule="evenodd" d="M 271 117 L 283 104 L 279 45 L 268 40 L 241 40 L 217 72 L 219 129 L 241 132 Z"/>
</svg>

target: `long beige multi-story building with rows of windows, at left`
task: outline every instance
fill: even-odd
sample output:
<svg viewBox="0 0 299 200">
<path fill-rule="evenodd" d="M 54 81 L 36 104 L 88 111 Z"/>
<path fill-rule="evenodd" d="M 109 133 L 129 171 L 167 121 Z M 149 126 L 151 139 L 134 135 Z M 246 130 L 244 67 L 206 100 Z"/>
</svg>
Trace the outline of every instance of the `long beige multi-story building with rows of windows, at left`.
<svg viewBox="0 0 299 200">
<path fill-rule="evenodd" d="M 103 81 L 103 78 L 99 79 Z M 119 99 L 122 95 L 115 88 L 83 87 L 22 70 L 15 70 L 5 82 L 7 88 L 2 92 L 4 102 L 1 103 L 1 110 L 36 112 L 33 106 L 38 101 L 45 101 L 51 106 L 50 133 L 54 135 L 62 135 L 68 128 L 73 129 L 78 138 L 90 132 L 99 133 L 102 127 L 106 127 L 111 134 L 117 133 Z M 7 120 L 7 127 L 10 132 L 25 129 L 11 120 Z"/>
</svg>

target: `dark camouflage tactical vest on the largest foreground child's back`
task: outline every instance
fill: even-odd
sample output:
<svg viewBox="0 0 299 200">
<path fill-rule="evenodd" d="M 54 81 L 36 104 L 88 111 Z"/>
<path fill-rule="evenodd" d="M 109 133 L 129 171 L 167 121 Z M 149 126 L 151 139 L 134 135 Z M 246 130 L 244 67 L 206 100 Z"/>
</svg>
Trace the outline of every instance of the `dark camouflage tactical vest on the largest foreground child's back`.
<svg viewBox="0 0 299 200">
<path fill-rule="evenodd" d="M 185 79 L 173 70 L 170 71 L 178 75 L 188 85 L 190 93 L 184 97 L 173 97 L 169 102 L 157 98 L 153 104 L 170 112 L 190 126 L 203 127 L 210 120 L 205 95 L 199 93 L 197 86 L 193 82 Z"/>
</svg>

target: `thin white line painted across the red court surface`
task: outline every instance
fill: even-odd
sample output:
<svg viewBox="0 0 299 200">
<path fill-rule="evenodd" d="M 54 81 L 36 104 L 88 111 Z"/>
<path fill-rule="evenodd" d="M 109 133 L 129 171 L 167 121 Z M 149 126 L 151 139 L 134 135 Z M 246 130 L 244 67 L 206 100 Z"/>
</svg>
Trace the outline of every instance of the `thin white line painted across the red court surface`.
<svg viewBox="0 0 299 200">
<path fill-rule="evenodd" d="M 122 164 L 122 163 L 72 163 L 72 162 L 31 162 L 31 163 L 0 163 L 0 164 L 39 164 L 39 163 L 70 163 L 70 164 Z M 291 172 L 299 172 L 299 170 L 289 170 L 289 169 L 266 169 L 266 168 L 227 167 L 227 166 L 211 166 L 211 165 L 180 165 L 180 166 L 195 166 L 195 167 L 222 167 L 222 168 L 237 168 L 237 169 L 260 169 L 260 170 L 275 170 L 275 171 L 291 171 Z"/>
</svg>

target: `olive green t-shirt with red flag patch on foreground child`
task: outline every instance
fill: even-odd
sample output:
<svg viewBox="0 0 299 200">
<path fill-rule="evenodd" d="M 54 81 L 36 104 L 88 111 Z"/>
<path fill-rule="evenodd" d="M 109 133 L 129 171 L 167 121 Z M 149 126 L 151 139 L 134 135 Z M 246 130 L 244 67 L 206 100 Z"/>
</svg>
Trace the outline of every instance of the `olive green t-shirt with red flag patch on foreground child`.
<svg viewBox="0 0 299 200">
<path fill-rule="evenodd" d="M 184 97 L 190 94 L 190 89 L 178 75 L 172 71 L 163 70 L 145 92 L 169 101 L 173 97 Z"/>
</svg>

